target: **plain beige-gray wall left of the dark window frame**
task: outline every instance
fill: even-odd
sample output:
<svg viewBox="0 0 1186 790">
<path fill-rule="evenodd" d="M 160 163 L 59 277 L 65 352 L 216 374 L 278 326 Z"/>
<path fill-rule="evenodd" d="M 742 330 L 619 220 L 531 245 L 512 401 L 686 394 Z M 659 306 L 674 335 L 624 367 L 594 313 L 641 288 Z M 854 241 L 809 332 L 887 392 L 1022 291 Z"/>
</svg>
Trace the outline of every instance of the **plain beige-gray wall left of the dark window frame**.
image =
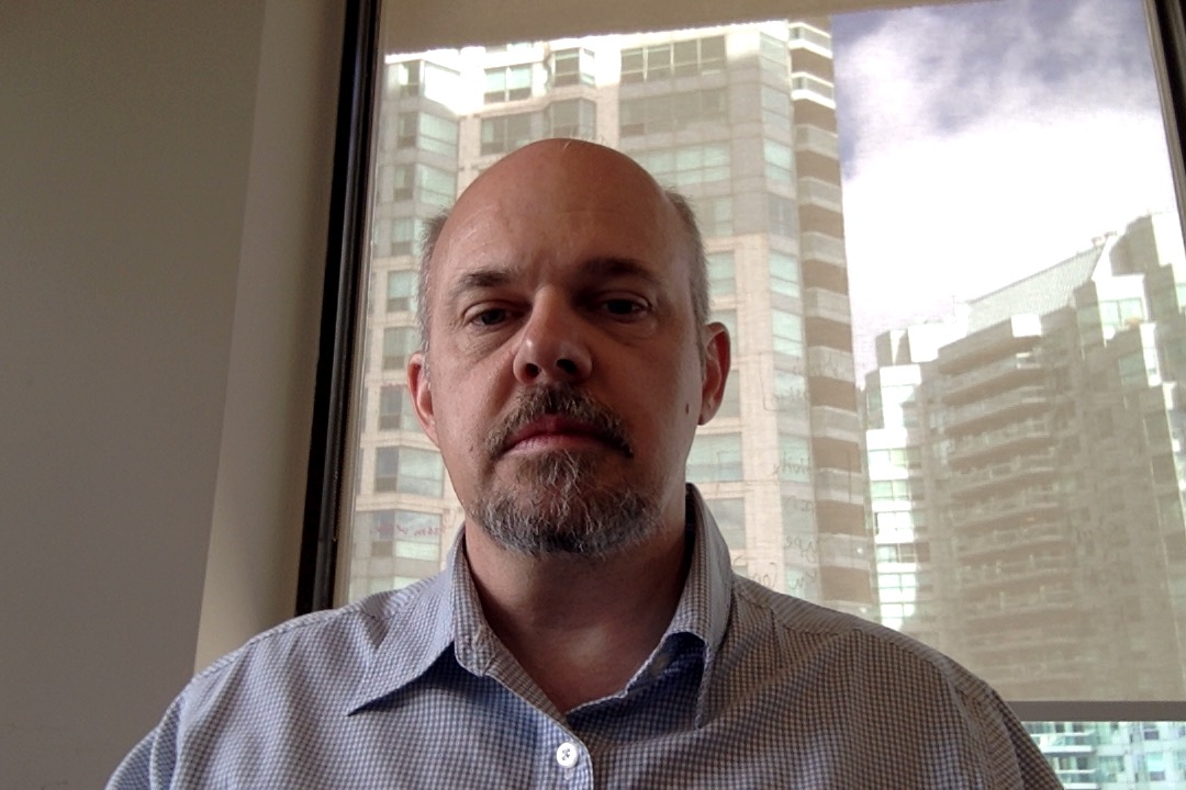
<svg viewBox="0 0 1186 790">
<path fill-rule="evenodd" d="M 0 4 L 2 786 L 100 785 L 203 605 L 206 653 L 292 611 L 340 40 L 321 0 Z"/>
</svg>

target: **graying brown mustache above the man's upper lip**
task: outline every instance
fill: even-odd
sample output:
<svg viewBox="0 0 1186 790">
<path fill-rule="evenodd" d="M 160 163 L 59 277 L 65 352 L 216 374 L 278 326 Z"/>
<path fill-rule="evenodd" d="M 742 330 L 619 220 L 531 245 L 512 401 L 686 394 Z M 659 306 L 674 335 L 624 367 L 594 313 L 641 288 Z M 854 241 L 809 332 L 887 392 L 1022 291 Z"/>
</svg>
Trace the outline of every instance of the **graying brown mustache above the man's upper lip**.
<svg viewBox="0 0 1186 790">
<path fill-rule="evenodd" d="M 582 423 L 601 442 L 621 452 L 627 458 L 635 449 L 626 436 L 625 420 L 608 406 L 593 399 L 587 392 L 572 384 L 555 384 L 524 390 L 516 399 L 510 413 L 500 419 L 486 437 L 486 456 L 497 458 L 509 449 L 511 436 L 544 417 L 563 417 Z"/>
</svg>

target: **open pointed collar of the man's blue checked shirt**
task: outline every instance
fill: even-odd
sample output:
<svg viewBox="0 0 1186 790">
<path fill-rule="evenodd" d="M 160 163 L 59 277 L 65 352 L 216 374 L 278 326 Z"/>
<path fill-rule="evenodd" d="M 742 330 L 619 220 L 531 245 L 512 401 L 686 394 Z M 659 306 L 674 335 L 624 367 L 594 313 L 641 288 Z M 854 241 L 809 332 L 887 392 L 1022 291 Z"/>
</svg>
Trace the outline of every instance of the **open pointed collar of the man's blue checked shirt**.
<svg viewBox="0 0 1186 790">
<path fill-rule="evenodd" d="M 725 638 L 733 597 L 729 550 L 716 521 L 695 486 L 688 484 L 687 528 L 691 560 L 683 593 L 659 650 L 676 635 L 690 634 L 704 646 L 701 700 L 708 687 L 713 657 Z M 423 675 L 453 648 L 458 663 L 484 675 L 498 660 L 498 641 L 482 615 L 459 531 L 445 570 L 435 577 L 395 593 L 375 596 L 362 609 L 381 623 L 372 660 L 363 672 L 347 713 L 388 696 Z M 368 606 L 368 604 L 371 604 Z"/>
</svg>

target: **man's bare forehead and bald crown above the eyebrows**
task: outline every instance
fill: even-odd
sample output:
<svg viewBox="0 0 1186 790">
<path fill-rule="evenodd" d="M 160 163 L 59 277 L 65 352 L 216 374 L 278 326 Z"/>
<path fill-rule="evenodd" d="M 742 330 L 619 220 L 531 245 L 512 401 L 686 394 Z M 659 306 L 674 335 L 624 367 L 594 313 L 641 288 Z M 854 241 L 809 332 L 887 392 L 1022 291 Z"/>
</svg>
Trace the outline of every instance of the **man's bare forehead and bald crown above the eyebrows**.
<svg viewBox="0 0 1186 790">
<path fill-rule="evenodd" d="M 453 280 L 473 266 L 598 258 L 632 259 L 662 274 L 686 257 L 675 208 L 621 154 L 523 153 L 541 155 L 504 160 L 458 200 L 433 252 L 433 278 Z"/>
</svg>

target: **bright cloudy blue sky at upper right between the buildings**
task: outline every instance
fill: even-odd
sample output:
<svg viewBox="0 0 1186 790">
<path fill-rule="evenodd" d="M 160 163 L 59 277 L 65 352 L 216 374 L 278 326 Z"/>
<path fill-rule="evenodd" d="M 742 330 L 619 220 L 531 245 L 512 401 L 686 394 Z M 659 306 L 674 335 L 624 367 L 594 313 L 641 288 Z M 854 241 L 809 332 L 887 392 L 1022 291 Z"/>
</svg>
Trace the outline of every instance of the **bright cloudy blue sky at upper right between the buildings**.
<svg viewBox="0 0 1186 790">
<path fill-rule="evenodd" d="M 1149 211 L 1173 186 L 1140 0 L 991 0 L 833 17 L 860 371 Z"/>
</svg>

